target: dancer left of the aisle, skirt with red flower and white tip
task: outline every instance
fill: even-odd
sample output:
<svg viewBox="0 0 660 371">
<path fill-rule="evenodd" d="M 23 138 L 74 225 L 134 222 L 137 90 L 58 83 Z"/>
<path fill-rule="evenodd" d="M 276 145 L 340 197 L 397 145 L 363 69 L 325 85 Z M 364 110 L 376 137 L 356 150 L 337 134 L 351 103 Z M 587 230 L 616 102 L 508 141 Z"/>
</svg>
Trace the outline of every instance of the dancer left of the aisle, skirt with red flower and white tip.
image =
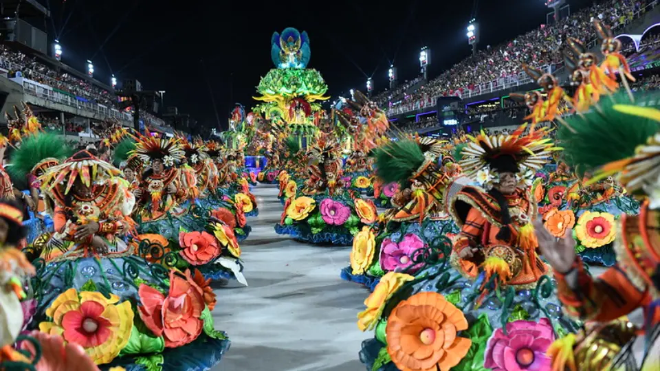
<svg viewBox="0 0 660 371">
<path fill-rule="evenodd" d="M 140 176 L 140 187 L 133 191 L 137 199 L 133 215 L 139 221 L 137 239 L 147 241 L 137 253 L 168 268 L 190 265 L 206 278 L 235 278 L 247 284 L 236 240 L 236 234 L 245 234 L 246 229 L 238 227 L 234 215 L 229 216 L 221 208 L 190 205 L 190 194 L 179 183 L 181 175 L 174 166 L 184 154 L 179 139 L 137 136 L 131 155 L 141 159 L 144 166 L 151 166 Z"/>
</svg>

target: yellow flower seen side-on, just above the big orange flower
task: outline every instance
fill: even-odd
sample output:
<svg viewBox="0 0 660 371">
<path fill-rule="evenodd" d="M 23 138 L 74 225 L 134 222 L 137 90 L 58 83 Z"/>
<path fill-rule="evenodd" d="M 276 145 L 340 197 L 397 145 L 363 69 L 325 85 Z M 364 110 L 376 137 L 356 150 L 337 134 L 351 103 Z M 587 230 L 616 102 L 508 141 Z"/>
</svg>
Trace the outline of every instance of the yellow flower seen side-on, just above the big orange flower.
<svg viewBox="0 0 660 371">
<path fill-rule="evenodd" d="M 406 282 L 415 277 L 406 273 L 388 272 L 380 278 L 380 282 L 373 289 L 373 293 L 364 300 L 366 309 L 358 313 L 358 328 L 362 331 L 373 329 L 385 308 L 385 302 Z"/>
</svg>

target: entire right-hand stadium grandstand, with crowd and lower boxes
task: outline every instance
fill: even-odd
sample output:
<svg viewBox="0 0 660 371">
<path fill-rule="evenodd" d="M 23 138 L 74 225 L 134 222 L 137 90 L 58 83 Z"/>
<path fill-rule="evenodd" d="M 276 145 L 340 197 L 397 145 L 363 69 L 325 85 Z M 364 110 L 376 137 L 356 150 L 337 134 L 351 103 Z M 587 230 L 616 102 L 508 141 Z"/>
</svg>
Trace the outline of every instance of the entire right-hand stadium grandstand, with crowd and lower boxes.
<svg viewBox="0 0 660 371">
<path fill-rule="evenodd" d="M 566 37 L 578 38 L 599 53 L 593 20 L 610 25 L 638 78 L 632 89 L 660 87 L 660 7 L 658 1 L 600 0 L 571 12 L 553 24 L 486 47 L 439 76 L 418 76 L 395 89 L 372 96 L 401 131 L 446 136 L 457 131 L 513 128 L 527 115 L 523 102 L 510 93 L 539 87 L 522 71 L 527 63 L 551 72 L 568 87 L 562 48 Z M 600 54 L 599 54 L 600 55 Z"/>
</svg>

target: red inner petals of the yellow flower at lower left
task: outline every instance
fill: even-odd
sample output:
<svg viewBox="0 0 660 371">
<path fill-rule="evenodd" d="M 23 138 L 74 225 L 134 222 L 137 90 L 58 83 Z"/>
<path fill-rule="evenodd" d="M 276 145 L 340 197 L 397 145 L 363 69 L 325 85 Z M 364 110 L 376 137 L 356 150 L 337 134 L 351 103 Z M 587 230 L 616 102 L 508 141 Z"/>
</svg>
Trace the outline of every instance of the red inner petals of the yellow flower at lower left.
<svg viewBox="0 0 660 371">
<path fill-rule="evenodd" d="M 62 317 L 65 339 L 83 348 L 103 344 L 112 335 L 112 324 L 101 317 L 104 310 L 103 304 L 89 301 L 83 302 L 78 311 L 68 311 Z"/>
</svg>

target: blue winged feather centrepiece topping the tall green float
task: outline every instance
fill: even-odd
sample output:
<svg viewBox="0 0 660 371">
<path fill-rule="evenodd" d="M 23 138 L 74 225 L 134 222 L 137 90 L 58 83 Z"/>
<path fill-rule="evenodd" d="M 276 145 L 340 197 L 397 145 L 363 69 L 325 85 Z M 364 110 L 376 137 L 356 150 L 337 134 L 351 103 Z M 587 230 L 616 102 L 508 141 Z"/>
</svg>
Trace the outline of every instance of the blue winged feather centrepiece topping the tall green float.
<svg viewBox="0 0 660 371">
<path fill-rule="evenodd" d="M 270 56 L 277 68 L 305 68 L 309 63 L 311 50 L 307 32 L 301 34 L 293 27 L 287 27 L 282 34 L 273 33 Z"/>
</svg>

